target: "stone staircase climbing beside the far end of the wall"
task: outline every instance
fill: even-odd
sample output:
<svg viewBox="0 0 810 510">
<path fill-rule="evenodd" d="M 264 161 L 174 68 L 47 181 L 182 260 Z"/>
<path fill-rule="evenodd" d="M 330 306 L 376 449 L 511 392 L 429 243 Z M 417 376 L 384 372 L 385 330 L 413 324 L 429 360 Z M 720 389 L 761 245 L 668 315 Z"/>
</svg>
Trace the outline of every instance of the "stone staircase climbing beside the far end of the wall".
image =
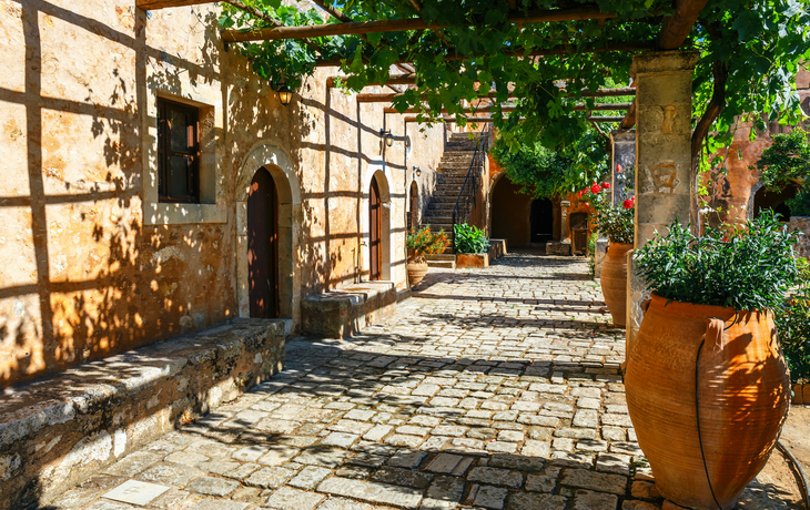
<svg viewBox="0 0 810 510">
<path fill-rule="evenodd" d="M 469 134 L 450 133 L 438 164 L 436 190 L 431 203 L 427 204 L 427 212 L 422 217 L 423 225 L 429 224 L 433 232 L 444 230 L 447 238 L 450 239 L 449 247 L 443 254 L 427 257 L 427 265 L 431 267 L 456 267 L 456 256 L 453 249 L 453 207 L 456 205 L 478 142 L 477 136 L 470 139 Z M 467 218 L 459 218 L 459 222 L 465 221 Z"/>
</svg>

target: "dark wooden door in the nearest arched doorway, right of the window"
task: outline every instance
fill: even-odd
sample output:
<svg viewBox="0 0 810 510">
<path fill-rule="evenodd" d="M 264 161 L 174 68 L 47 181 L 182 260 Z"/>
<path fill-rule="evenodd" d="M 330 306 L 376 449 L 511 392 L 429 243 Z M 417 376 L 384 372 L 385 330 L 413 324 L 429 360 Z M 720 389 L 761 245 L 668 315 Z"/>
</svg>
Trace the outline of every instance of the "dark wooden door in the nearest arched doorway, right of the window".
<svg viewBox="0 0 810 510">
<path fill-rule="evenodd" d="M 251 317 L 277 317 L 279 200 L 265 169 L 253 176 L 247 195 L 247 282 Z"/>
</svg>

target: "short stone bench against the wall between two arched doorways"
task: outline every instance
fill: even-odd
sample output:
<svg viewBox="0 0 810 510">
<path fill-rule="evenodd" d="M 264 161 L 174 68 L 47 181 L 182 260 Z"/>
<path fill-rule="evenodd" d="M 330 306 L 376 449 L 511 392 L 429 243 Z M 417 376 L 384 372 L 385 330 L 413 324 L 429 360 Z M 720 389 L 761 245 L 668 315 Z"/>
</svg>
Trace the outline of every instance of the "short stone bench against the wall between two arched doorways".
<svg viewBox="0 0 810 510">
<path fill-rule="evenodd" d="M 305 297 L 301 300 L 301 333 L 345 338 L 394 313 L 393 282 L 363 282 Z"/>
</svg>

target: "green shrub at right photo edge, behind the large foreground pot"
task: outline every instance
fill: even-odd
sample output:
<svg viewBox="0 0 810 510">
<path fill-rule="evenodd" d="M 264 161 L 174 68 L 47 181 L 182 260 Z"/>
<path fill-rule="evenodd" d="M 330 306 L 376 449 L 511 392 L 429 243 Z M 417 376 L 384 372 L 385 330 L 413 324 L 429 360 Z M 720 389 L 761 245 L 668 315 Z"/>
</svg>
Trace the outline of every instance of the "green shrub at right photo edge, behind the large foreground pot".
<svg viewBox="0 0 810 510">
<path fill-rule="evenodd" d="M 810 263 L 799 259 L 800 284 L 776 314 L 777 332 L 793 382 L 810 382 Z"/>
</svg>

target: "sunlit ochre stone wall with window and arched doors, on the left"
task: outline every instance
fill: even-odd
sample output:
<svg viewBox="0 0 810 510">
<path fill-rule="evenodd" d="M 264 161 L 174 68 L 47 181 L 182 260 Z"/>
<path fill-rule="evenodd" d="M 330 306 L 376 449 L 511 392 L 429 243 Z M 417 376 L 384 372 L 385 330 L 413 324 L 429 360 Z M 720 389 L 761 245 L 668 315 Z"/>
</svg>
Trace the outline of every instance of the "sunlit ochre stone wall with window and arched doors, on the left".
<svg viewBox="0 0 810 510">
<path fill-rule="evenodd" d="M 131 0 L 0 0 L 0 386 L 245 316 L 240 204 L 261 165 L 288 200 L 283 316 L 367 277 L 375 173 L 387 182 L 383 277 L 406 287 L 411 169 L 429 196 L 445 128 L 419 132 L 327 89 L 334 68 L 284 108 L 223 51 L 216 17 L 215 4 L 148 18 Z M 158 98 L 200 108 L 202 204 L 158 202 Z M 396 136 L 384 153 L 382 128 Z"/>
</svg>

